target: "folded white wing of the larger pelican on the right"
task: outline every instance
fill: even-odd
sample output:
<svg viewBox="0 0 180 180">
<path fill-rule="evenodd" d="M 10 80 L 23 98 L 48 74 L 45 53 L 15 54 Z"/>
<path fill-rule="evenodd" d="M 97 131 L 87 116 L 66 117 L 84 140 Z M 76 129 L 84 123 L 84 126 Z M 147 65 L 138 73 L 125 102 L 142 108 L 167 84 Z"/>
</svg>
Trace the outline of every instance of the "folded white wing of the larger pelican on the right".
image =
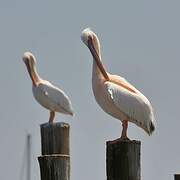
<svg viewBox="0 0 180 180">
<path fill-rule="evenodd" d="M 128 84 L 126 83 L 126 85 Z M 148 134 L 151 134 L 154 130 L 154 115 L 148 99 L 139 91 L 134 93 L 113 82 L 105 82 L 105 85 L 113 104 L 126 114 L 131 122 L 134 122 Z M 132 87 L 131 85 L 130 88 Z"/>
</svg>

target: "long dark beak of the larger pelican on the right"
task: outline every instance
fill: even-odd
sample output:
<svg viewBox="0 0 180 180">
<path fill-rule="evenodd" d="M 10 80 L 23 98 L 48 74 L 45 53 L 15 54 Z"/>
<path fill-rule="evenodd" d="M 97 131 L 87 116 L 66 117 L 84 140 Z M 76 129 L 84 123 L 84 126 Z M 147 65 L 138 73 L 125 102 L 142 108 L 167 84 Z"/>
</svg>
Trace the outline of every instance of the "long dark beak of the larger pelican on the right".
<svg viewBox="0 0 180 180">
<path fill-rule="evenodd" d="M 96 52 L 96 49 L 94 48 L 94 44 L 92 42 L 91 37 L 89 37 L 89 39 L 88 39 L 88 48 L 91 51 L 91 54 L 92 54 L 94 60 L 96 61 L 96 64 L 99 67 L 99 69 L 100 69 L 101 73 L 103 74 L 104 78 L 106 80 L 109 80 L 109 76 L 107 75 L 107 72 L 106 72 L 106 70 L 105 70 L 105 68 L 104 68 L 104 66 L 103 66 L 103 64 L 102 64 L 102 62 L 100 60 L 100 57 L 99 57 L 98 53 Z"/>
</svg>

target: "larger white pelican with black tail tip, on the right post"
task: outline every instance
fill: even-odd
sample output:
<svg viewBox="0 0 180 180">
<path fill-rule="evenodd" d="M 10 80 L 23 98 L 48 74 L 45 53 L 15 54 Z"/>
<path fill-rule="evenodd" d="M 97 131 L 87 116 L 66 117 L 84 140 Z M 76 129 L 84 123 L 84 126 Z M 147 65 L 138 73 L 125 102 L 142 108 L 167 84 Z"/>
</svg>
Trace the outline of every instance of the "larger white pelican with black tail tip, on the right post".
<svg viewBox="0 0 180 180">
<path fill-rule="evenodd" d="M 101 61 L 100 43 L 92 30 L 83 30 L 81 39 L 93 56 L 92 88 L 95 99 L 106 113 L 122 121 L 120 139 L 128 139 L 128 121 L 150 135 L 155 126 L 149 100 L 124 78 L 105 70 Z"/>
</svg>

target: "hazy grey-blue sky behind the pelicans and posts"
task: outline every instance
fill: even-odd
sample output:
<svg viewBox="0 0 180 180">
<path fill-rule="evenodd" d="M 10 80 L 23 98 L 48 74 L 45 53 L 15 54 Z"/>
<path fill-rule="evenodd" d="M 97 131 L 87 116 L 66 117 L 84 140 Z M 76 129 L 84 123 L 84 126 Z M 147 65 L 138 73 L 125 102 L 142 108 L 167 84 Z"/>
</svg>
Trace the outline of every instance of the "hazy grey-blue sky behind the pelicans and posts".
<svg viewBox="0 0 180 180">
<path fill-rule="evenodd" d="M 27 132 L 33 138 L 32 179 L 40 179 L 39 124 L 49 112 L 32 96 L 24 51 L 36 56 L 40 76 L 71 98 L 75 117 L 56 117 L 71 125 L 71 179 L 105 179 L 105 142 L 119 137 L 121 124 L 93 97 L 92 57 L 80 39 L 91 27 L 108 71 L 124 76 L 154 105 L 151 137 L 129 127 L 129 137 L 142 142 L 142 179 L 173 180 L 180 171 L 179 7 L 178 0 L 1 1 L 0 179 L 19 180 Z"/>
</svg>

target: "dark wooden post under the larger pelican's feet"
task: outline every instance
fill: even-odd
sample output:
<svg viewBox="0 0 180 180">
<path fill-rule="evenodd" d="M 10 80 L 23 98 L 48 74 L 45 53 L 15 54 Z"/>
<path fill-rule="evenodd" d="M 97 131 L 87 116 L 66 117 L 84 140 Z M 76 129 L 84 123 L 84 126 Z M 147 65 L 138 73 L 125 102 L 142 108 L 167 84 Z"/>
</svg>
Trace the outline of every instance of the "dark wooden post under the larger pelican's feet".
<svg viewBox="0 0 180 180">
<path fill-rule="evenodd" d="M 140 180 L 140 141 L 108 141 L 106 148 L 107 180 Z"/>
</svg>

